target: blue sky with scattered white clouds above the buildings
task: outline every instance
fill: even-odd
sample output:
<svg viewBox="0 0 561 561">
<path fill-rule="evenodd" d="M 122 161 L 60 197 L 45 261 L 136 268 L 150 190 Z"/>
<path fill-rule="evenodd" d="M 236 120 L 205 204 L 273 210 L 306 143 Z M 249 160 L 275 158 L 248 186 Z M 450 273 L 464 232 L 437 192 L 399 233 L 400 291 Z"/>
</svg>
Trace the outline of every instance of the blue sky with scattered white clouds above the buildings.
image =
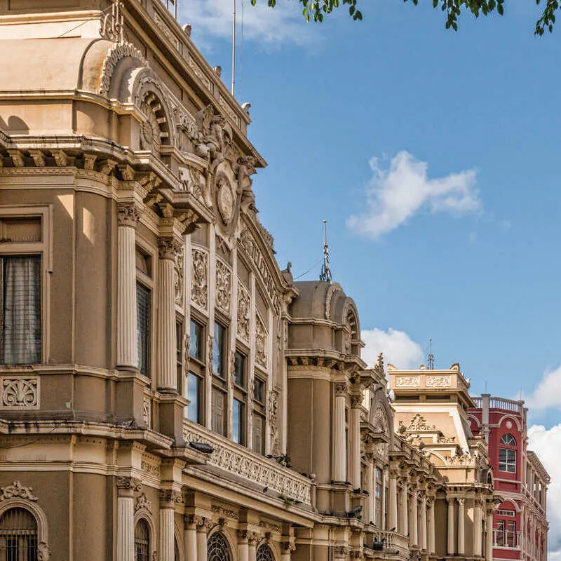
<svg viewBox="0 0 561 561">
<path fill-rule="evenodd" d="M 306 25 L 295 1 L 238 0 L 237 97 L 269 163 L 253 184 L 259 216 L 295 276 L 320 259 L 326 218 L 367 356 L 417 365 L 432 337 L 436 366 L 459 362 L 473 393 L 522 392 L 547 457 L 561 445 L 561 28 L 534 37 L 533 0 L 464 15 L 457 33 L 428 2 L 361 4 L 363 22 Z M 181 13 L 227 84 L 231 5 Z"/>
</svg>

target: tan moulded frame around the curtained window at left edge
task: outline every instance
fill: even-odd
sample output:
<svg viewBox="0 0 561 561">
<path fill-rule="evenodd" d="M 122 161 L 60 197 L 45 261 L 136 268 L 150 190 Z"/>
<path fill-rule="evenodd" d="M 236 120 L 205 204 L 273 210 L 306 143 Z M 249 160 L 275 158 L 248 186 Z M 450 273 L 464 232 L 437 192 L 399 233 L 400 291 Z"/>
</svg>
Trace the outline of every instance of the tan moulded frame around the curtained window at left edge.
<svg viewBox="0 0 561 561">
<path fill-rule="evenodd" d="M 50 358 L 50 274 L 53 272 L 53 226 L 52 205 L 0 205 L 2 218 L 40 218 L 41 241 L 33 242 L 0 242 L 0 256 L 40 255 L 40 295 L 41 295 L 41 353 L 40 364 L 48 363 Z M 0 368 L 11 367 L 1 363 Z"/>
</svg>

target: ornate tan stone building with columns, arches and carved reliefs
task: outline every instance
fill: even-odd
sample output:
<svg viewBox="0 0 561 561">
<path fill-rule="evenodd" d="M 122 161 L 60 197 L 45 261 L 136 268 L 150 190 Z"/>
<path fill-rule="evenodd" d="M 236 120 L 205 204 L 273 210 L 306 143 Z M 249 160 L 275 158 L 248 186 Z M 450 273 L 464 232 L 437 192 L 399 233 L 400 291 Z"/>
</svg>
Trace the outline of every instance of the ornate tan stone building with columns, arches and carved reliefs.
<svg viewBox="0 0 561 561">
<path fill-rule="evenodd" d="M 392 405 L 353 300 L 280 269 L 189 27 L 0 0 L 0 43 L 0 560 L 490 561 L 465 379 Z"/>
</svg>

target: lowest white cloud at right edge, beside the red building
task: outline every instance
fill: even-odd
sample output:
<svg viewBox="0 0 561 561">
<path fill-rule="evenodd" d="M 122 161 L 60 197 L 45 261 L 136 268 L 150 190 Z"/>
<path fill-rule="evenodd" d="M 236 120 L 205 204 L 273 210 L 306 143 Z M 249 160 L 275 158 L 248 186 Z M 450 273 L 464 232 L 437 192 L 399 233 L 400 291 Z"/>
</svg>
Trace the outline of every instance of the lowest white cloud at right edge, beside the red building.
<svg viewBox="0 0 561 561">
<path fill-rule="evenodd" d="M 548 560 L 561 561 L 561 424 L 546 429 L 533 425 L 528 429 L 528 449 L 534 450 L 551 477 L 548 487 Z"/>
</svg>

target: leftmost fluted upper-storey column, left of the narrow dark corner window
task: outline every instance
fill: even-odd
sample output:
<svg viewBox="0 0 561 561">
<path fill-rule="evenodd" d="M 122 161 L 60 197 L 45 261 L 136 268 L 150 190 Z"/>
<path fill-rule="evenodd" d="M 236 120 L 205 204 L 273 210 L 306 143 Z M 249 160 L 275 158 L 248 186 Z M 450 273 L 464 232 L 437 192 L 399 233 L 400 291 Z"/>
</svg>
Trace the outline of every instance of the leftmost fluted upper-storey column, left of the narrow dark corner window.
<svg viewBox="0 0 561 561">
<path fill-rule="evenodd" d="M 117 366 L 137 368 L 136 247 L 134 203 L 119 205 L 117 227 Z"/>
</svg>

